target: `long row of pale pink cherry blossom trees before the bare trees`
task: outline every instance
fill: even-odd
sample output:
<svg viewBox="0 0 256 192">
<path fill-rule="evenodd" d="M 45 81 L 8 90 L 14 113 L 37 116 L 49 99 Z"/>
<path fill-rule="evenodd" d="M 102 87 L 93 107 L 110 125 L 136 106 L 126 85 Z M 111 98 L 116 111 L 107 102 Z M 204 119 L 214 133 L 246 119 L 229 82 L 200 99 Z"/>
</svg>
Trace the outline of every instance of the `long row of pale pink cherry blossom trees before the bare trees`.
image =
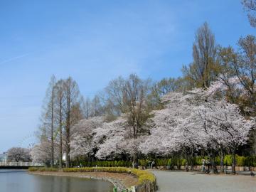
<svg viewBox="0 0 256 192">
<path fill-rule="evenodd" d="M 150 113 L 151 118 L 144 123 L 137 138 L 133 137 L 132 124 L 127 120 L 129 114 L 122 114 L 112 122 L 105 122 L 104 117 L 83 119 L 73 127 L 71 154 L 74 159 L 90 159 L 90 156 L 132 159 L 134 156 L 182 154 L 186 162 L 195 154 L 211 154 L 213 160 L 220 156 L 221 171 L 224 171 L 225 154 L 233 154 L 235 172 L 235 152 L 238 146 L 246 144 L 255 119 L 245 119 L 238 105 L 216 97 L 218 92 L 228 89 L 225 86 L 218 89 L 218 83 L 207 90 L 195 89 L 186 95 L 182 92 L 165 95 L 164 109 Z"/>
</svg>

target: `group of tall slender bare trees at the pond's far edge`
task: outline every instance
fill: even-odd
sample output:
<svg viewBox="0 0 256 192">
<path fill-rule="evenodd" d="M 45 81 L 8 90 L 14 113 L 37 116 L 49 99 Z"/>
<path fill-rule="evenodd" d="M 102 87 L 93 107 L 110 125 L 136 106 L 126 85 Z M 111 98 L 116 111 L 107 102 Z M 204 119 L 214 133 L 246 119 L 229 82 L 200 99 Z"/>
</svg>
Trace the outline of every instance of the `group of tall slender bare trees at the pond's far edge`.
<svg viewBox="0 0 256 192">
<path fill-rule="evenodd" d="M 71 127 L 84 117 L 81 101 L 78 84 L 72 78 L 56 80 L 53 75 L 43 102 L 38 132 L 41 144 L 31 151 L 35 161 L 40 159 L 53 166 L 58 159 L 62 166 L 64 149 L 66 165 L 70 166 Z"/>
</svg>

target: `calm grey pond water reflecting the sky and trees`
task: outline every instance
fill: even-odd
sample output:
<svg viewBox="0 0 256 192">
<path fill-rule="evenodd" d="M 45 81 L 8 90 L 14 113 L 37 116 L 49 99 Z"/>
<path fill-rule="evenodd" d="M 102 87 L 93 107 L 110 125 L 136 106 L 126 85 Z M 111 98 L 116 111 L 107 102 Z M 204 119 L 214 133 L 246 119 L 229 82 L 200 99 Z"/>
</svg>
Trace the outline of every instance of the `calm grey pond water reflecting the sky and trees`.
<svg viewBox="0 0 256 192">
<path fill-rule="evenodd" d="M 107 181 L 68 176 L 37 176 L 26 170 L 0 169 L 1 192 L 110 192 Z"/>
</svg>

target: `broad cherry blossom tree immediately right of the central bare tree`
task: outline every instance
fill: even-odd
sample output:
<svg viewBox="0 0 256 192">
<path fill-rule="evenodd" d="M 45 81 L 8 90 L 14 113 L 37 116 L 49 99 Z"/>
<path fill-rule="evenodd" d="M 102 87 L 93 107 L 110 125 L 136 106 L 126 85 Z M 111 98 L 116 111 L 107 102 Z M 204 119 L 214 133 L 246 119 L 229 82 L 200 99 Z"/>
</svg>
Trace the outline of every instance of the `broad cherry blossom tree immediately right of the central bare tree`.
<svg viewBox="0 0 256 192">
<path fill-rule="evenodd" d="M 198 146 L 205 144 L 204 134 L 198 129 L 199 122 L 190 116 L 194 106 L 181 92 L 165 95 L 163 102 L 166 103 L 166 107 L 154 111 L 154 127 L 140 149 L 144 154 L 160 155 L 183 151 L 188 162 L 188 155 L 193 158 Z M 193 169 L 193 166 L 191 167 Z"/>
</svg>

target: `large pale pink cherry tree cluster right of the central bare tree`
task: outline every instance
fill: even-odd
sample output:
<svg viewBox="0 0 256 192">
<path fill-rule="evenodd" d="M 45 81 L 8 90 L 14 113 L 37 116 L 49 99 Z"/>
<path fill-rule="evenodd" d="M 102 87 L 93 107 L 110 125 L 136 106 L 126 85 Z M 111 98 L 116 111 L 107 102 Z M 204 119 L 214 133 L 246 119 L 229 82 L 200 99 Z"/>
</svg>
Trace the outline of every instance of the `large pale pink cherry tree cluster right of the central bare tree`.
<svg viewBox="0 0 256 192">
<path fill-rule="evenodd" d="M 142 153 L 166 155 L 181 151 L 188 162 L 188 155 L 193 158 L 194 151 L 218 151 L 223 170 L 223 149 L 230 148 L 235 173 L 235 151 L 247 142 L 254 121 L 245 119 L 237 105 L 214 96 L 223 86 L 220 82 L 213 86 L 208 90 L 194 89 L 186 95 L 165 95 L 165 108 L 154 111 L 150 135 L 139 146 Z"/>
</svg>

